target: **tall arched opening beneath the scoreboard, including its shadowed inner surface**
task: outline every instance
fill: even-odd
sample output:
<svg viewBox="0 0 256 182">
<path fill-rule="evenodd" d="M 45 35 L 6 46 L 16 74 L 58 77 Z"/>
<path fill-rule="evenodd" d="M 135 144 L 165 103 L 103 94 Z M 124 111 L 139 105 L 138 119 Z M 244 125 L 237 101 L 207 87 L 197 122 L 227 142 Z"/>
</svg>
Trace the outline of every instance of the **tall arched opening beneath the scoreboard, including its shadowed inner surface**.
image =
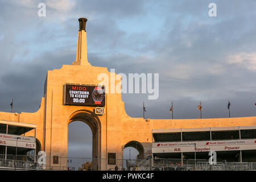
<svg viewBox="0 0 256 182">
<path fill-rule="evenodd" d="M 79 110 L 68 122 L 68 167 L 80 170 L 100 169 L 101 123 L 89 110 Z"/>
</svg>

